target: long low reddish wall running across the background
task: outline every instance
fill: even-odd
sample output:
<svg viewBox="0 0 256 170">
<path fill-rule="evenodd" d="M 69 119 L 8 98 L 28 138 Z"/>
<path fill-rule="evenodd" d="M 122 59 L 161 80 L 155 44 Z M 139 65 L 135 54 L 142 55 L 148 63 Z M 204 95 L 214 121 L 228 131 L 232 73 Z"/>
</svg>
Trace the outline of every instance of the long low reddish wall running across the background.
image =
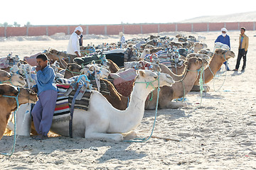
<svg viewBox="0 0 256 170">
<path fill-rule="evenodd" d="M 255 30 L 256 22 L 244 23 L 152 23 L 152 24 L 119 24 L 119 25 L 89 25 L 81 26 L 84 34 L 118 35 L 126 34 L 161 33 L 171 31 L 201 32 L 220 30 L 225 27 L 228 30 Z M 76 26 L 31 26 L 31 27 L 0 27 L 0 37 L 9 36 L 38 36 L 54 35 L 55 33 L 71 34 Z"/>
</svg>

